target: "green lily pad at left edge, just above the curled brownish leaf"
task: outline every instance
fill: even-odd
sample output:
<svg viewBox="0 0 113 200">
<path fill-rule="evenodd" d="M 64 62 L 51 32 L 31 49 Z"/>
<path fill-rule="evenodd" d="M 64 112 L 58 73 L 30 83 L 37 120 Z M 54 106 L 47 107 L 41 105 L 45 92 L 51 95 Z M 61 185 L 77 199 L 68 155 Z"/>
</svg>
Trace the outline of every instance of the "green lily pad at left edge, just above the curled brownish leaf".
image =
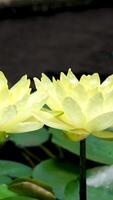
<svg viewBox="0 0 113 200">
<path fill-rule="evenodd" d="M 9 160 L 0 160 L 0 176 L 30 177 L 31 174 L 32 169 L 24 164 Z"/>
</svg>

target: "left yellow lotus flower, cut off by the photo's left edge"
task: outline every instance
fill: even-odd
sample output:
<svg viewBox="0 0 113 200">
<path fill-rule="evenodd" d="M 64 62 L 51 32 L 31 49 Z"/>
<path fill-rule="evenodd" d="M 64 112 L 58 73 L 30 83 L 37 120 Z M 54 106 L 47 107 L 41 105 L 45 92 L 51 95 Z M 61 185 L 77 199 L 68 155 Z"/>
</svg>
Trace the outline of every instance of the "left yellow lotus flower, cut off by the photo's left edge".
<svg viewBox="0 0 113 200">
<path fill-rule="evenodd" d="M 37 121 L 33 111 L 45 103 L 43 91 L 31 93 L 30 80 L 23 76 L 12 88 L 0 72 L 0 137 L 5 133 L 20 133 L 39 129 L 43 123 Z"/>
</svg>

